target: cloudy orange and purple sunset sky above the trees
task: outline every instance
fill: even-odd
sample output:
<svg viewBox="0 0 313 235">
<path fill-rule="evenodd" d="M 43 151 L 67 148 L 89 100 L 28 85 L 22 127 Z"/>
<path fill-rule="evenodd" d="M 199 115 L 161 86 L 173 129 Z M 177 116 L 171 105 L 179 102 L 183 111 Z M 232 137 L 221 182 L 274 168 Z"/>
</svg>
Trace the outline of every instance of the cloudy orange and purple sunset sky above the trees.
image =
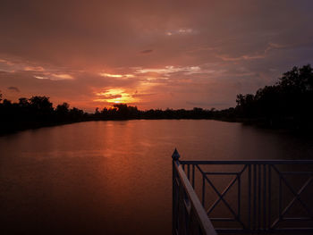
<svg viewBox="0 0 313 235">
<path fill-rule="evenodd" d="M 2 0 L 0 90 L 89 112 L 228 108 L 312 62 L 312 9 L 302 0 Z"/>
</svg>

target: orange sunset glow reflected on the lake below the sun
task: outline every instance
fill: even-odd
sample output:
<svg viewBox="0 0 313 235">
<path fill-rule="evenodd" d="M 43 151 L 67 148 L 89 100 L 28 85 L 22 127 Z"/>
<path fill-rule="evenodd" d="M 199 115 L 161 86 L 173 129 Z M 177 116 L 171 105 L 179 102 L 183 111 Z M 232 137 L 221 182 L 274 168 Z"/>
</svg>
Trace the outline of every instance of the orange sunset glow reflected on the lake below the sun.
<svg viewBox="0 0 313 235">
<path fill-rule="evenodd" d="M 138 224 L 148 230 L 164 213 L 156 211 L 164 202 L 156 193 L 158 183 L 151 180 L 157 169 L 147 157 L 148 147 L 134 142 L 144 130 L 138 130 L 133 122 L 109 122 L 105 126 L 105 130 L 99 131 L 99 138 L 103 138 L 104 143 L 103 172 L 97 173 L 103 179 L 103 197 L 113 206 L 109 211 L 110 220 L 120 218 L 133 231 L 138 230 Z M 151 222 L 142 224 L 142 218 L 147 216 Z"/>
</svg>

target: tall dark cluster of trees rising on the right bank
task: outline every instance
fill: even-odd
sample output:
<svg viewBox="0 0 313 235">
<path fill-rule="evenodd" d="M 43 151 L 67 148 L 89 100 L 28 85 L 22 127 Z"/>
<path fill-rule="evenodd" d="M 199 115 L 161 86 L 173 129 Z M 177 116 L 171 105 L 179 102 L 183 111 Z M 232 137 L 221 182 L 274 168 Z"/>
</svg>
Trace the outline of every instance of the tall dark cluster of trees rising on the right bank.
<svg viewBox="0 0 313 235">
<path fill-rule="evenodd" d="M 236 118 L 269 127 L 313 130 L 313 71 L 311 66 L 293 67 L 273 86 L 255 95 L 237 95 Z"/>
</svg>

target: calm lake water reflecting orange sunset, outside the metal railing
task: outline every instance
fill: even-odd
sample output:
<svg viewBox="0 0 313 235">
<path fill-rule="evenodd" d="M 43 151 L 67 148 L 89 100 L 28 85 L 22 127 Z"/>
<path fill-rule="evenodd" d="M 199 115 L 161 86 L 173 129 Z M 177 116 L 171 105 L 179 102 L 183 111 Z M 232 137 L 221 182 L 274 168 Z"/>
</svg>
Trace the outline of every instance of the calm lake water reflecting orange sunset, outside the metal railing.
<svg viewBox="0 0 313 235">
<path fill-rule="evenodd" d="M 2 234 L 171 234 L 172 158 L 308 159 L 312 139 L 207 120 L 80 122 L 0 138 Z"/>
</svg>

